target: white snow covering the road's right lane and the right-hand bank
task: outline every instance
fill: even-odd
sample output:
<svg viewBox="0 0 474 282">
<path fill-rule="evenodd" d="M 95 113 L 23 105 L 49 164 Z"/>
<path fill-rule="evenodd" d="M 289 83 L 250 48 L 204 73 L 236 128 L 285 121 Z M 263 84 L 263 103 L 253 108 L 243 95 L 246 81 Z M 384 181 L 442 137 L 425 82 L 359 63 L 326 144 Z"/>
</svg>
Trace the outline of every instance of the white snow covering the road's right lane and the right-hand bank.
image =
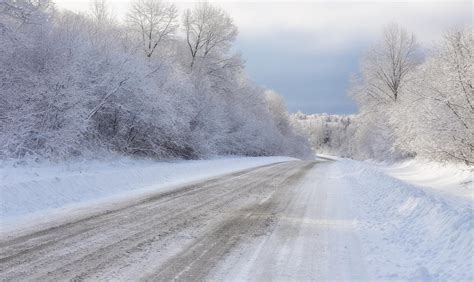
<svg viewBox="0 0 474 282">
<path fill-rule="evenodd" d="M 472 199 L 427 188 L 366 162 L 317 164 L 275 230 L 236 248 L 213 278 L 472 281 Z"/>
</svg>

